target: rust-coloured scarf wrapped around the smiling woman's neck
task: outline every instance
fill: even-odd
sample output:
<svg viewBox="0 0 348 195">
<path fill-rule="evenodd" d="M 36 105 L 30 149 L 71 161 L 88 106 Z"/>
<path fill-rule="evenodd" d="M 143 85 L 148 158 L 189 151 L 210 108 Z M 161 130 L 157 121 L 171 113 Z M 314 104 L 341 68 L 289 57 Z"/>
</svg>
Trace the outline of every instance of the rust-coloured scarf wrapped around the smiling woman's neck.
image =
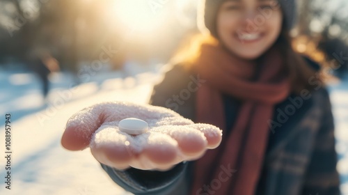
<svg viewBox="0 0 348 195">
<path fill-rule="evenodd" d="M 222 94 L 242 102 L 235 125 L 221 145 L 196 161 L 191 194 L 253 195 L 258 185 L 274 105 L 287 98 L 290 81 L 276 45 L 258 62 L 203 45 L 196 71 L 206 80 L 198 89 L 196 122 L 226 132 Z M 226 134 L 226 133 L 224 133 Z"/>
</svg>

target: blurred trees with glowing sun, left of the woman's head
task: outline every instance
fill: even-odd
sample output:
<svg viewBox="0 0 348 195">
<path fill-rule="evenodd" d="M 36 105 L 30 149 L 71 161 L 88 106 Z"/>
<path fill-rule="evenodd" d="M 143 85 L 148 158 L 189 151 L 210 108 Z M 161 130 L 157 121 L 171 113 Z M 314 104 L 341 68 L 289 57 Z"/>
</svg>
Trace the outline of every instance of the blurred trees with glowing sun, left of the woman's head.
<svg viewBox="0 0 348 195">
<path fill-rule="evenodd" d="M 177 25 L 180 21 L 173 17 L 171 5 L 175 2 L 127 2 L 131 1 L 0 0 L 0 62 L 25 62 L 37 47 L 49 50 L 63 69 L 72 72 L 77 72 L 79 62 L 98 59 L 101 48 L 118 51 L 111 61 L 114 68 L 120 68 L 127 58 L 166 61 L 177 39 L 194 26 Z M 132 12 L 139 17 L 152 15 L 148 20 L 156 25 L 150 31 L 136 29 L 139 22 L 149 21 L 127 15 L 132 8 L 142 11 L 140 15 Z M 125 25 L 132 22 L 133 26 Z"/>
</svg>

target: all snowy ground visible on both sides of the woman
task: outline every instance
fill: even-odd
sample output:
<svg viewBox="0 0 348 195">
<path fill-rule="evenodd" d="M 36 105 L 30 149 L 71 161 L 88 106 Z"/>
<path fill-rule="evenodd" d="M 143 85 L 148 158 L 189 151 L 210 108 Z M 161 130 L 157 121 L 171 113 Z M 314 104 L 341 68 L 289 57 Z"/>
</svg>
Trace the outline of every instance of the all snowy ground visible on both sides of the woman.
<svg viewBox="0 0 348 195">
<path fill-rule="evenodd" d="M 74 88 L 71 75 L 57 74 L 48 102 L 40 85 L 26 72 L 0 72 L 0 153 L 5 155 L 5 114 L 12 122 L 11 190 L 5 188 L 4 158 L 0 160 L 0 194 L 129 194 L 106 176 L 89 149 L 70 152 L 61 147 L 67 119 L 76 111 L 97 102 L 127 100 L 148 102 L 158 74 L 145 72 L 124 77 L 122 72 L 96 75 Z M 125 79 L 121 79 L 121 78 Z M 104 80 L 105 78 L 109 78 Z M 336 149 L 342 176 L 342 192 L 348 194 L 348 79 L 330 87 L 337 137 Z"/>
</svg>

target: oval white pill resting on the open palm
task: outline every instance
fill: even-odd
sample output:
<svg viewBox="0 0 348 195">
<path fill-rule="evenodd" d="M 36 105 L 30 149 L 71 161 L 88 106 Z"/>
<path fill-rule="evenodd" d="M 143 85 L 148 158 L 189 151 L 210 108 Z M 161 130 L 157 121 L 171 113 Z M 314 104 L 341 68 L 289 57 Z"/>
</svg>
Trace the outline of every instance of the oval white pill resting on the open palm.
<svg viewBox="0 0 348 195">
<path fill-rule="evenodd" d="M 148 131 L 148 123 L 138 118 L 125 118 L 118 123 L 121 132 L 127 134 L 143 134 Z"/>
</svg>

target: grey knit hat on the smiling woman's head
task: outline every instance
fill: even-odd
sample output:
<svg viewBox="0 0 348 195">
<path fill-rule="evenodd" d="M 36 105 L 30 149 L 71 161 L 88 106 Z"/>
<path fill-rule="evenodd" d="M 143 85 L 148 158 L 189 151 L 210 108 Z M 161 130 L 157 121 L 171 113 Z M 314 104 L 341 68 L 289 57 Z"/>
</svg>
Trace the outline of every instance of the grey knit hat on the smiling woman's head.
<svg viewBox="0 0 348 195">
<path fill-rule="evenodd" d="M 209 30 L 213 36 L 216 33 L 216 13 L 221 3 L 226 0 L 201 0 L 198 8 L 198 28 L 201 31 Z M 295 0 L 278 0 L 283 10 L 285 27 L 292 29 L 296 20 L 296 2 Z"/>
</svg>

